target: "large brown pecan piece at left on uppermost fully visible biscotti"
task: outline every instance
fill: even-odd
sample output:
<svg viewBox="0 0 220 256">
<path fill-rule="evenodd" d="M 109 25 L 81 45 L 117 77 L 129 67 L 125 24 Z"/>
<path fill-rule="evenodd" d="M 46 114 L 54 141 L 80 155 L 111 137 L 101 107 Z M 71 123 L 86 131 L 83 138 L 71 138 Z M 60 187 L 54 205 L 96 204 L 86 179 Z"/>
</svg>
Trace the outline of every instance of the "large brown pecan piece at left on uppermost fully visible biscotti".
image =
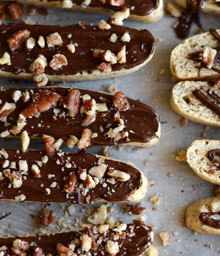
<svg viewBox="0 0 220 256">
<path fill-rule="evenodd" d="M 19 49 L 22 44 L 30 37 L 31 32 L 27 29 L 20 30 L 16 33 L 14 33 L 9 39 L 8 39 L 8 45 L 11 51 L 15 51 Z"/>
</svg>

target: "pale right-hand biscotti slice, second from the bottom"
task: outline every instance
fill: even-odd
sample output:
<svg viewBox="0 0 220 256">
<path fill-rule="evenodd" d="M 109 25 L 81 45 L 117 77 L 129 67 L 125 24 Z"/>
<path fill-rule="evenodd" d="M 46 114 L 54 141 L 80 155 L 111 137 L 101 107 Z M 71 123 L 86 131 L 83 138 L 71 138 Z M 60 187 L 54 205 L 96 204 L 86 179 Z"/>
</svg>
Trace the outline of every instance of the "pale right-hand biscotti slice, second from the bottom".
<svg viewBox="0 0 220 256">
<path fill-rule="evenodd" d="M 220 141 L 196 140 L 187 149 L 187 163 L 202 179 L 220 185 Z"/>
</svg>

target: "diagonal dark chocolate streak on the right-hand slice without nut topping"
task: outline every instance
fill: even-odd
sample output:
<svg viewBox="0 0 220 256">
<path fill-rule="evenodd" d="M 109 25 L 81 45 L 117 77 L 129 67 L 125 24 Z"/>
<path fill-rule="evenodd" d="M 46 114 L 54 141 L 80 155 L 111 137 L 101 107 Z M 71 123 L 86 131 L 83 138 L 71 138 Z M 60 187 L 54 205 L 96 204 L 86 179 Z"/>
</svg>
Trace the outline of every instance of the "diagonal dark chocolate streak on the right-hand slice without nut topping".
<svg viewBox="0 0 220 256">
<path fill-rule="evenodd" d="M 193 95 L 200 102 L 202 102 L 207 108 L 211 109 L 218 116 L 220 116 L 220 106 L 219 106 L 220 97 L 210 89 L 207 90 L 206 92 L 209 97 L 203 93 L 202 89 L 194 90 Z"/>
</svg>

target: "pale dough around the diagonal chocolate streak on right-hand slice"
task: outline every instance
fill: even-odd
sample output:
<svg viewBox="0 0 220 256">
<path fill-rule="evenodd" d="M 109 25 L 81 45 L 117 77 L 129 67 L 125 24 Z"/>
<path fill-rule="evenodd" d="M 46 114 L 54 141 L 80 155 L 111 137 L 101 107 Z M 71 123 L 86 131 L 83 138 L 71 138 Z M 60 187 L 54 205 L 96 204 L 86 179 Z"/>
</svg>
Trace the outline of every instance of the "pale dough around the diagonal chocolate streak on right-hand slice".
<svg viewBox="0 0 220 256">
<path fill-rule="evenodd" d="M 220 116 L 194 96 L 195 90 L 211 90 L 216 94 L 219 92 L 219 89 L 214 89 L 208 82 L 179 82 L 171 93 L 170 104 L 173 110 L 190 121 L 220 127 Z"/>
</svg>

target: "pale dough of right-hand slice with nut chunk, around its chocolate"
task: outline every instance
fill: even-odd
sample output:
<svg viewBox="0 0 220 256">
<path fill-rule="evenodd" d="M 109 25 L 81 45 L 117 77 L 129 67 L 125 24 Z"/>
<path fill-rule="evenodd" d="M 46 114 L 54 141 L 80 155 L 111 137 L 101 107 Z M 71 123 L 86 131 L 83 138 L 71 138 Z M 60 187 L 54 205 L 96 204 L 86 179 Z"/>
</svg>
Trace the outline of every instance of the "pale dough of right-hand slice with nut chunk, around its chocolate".
<svg viewBox="0 0 220 256">
<path fill-rule="evenodd" d="M 220 29 L 216 30 L 220 33 Z M 178 80 L 211 79 L 218 76 L 218 72 L 211 68 L 200 67 L 198 62 L 190 59 L 190 55 L 201 52 L 205 47 L 216 49 L 220 41 L 215 39 L 210 32 L 202 33 L 184 40 L 171 53 L 170 70 Z M 220 69 L 220 64 L 215 63 L 214 68 Z"/>
</svg>

